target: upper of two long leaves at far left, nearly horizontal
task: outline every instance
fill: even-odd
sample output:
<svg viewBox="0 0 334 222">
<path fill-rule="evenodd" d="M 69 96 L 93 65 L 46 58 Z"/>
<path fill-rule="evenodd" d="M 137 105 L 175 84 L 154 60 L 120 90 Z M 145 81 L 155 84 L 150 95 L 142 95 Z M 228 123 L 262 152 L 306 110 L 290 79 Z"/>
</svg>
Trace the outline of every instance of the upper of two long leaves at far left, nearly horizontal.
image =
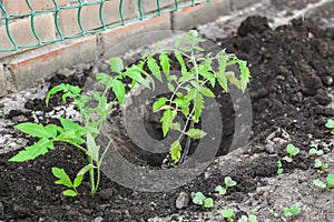
<svg viewBox="0 0 334 222">
<path fill-rule="evenodd" d="M 19 123 L 14 129 L 20 130 L 23 133 L 30 134 L 36 138 L 55 138 L 57 135 L 57 129 L 55 125 L 45 128 L 42 124 L 37 124 L 32 122 Z"/>
</svg>

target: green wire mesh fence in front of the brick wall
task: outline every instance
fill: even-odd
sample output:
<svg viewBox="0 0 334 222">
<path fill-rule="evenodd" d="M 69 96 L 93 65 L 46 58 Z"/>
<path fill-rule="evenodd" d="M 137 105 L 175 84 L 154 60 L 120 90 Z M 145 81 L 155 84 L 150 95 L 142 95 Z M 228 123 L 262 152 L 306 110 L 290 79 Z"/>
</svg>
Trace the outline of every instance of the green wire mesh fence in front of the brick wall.
<svg viewBox="0 0 334 222">
<path fill-rule="evenodd" d="M 12 0 L 12 1 L 17 1 L 17 0 Z M 106 22 L 106 20 L 108 20 L 108 17 L 111 17 L 115 14 L 105 14 L 104 13 L 104 4 L 108 1 L 108 0 L 78 0 L 78 1 L 73 1 L 72 3 L 68 3 L 66 6 L 60 6 L 59 1 L 60 0 L 52 0 L 53 4 L 51 7 L 48 7 L 49 9 L 43 9 L 43 10 L 35 10 L 35 8 L 32 7 L 35 0 L 26 0 L 26 4 L 24 7 L 28 7 L 29 10 L 26 13 L 10 13 L 3 2 L 3 0 L 0 0 L 0 31 L 2 33 L 2 38 L 3 36 L 6 36 L 6 38 L 8 38 L 8 40 L 10 40 L 9 42 L 11 42 L 12 46 L 6 46 L 6 48 L 3 46 L 1 46 L 0 42 L 0 52 L 10 52 L 10 51 L 18 51 L 19 49 L 27 49 L 27 48 L 35 48 L 35 47 L 40 47 L 47 43 L 52 43 L 52 42 L 59 42 L 59 41 L 63 41 L 66 39 L 73 39 L 73 38 L 79 38 L 79 37 L 84 37 L 88 33 L 97 33 L 100 31 L 105 31 L 108 29 L 112 29 L 116 27 L 121 27 L 121 26 L 126 26 L 127 23 L 131 23 L 131 22 L 136 22 L 136 21 L 140 21 L 144 20 L 146 18 L 153 18 L 153 17 L 157 17 L 160 16 L 163 13 L 167 13 L 167 12 L 171 12 L 171 11 L 177 11 L 179 9 L 186 8 L 186 7 L 194 7 L 198 3 L 203 3 L 203 2 L 208 2 L 209 0 L 171 0 L 173 3 L 169 6 L 161 6 L 161 3 L 164 3 L 164 0 L 136 0 L 136 16 L 135 18 L 126 18 L 124 16 L 124 11 L 125 11 L 125 7 L 127 7 L 127 3 L 129 1 L 126 0 L 115 0 L 118 3 L 118 21 L 117 22 L 112 22 L 112 23 L 108 23 Z M 109 0 L 112 1 L 112 0 Z M 155 10 L 151 10 L 153 12 L 149 13 L 145 13 L 143 10 L 143 7 L 145 3 L 147 3 L 148 1 L 154 2 L 155 6 Z M 51 1 L 50 1 L 51 2 Z M 151 3 L 150 2 L 150 3 Z M 9 2 L 10 3 L 10 2 Z M 81 11 L 85 7 L 88 6 L 94 6 L 96 4 L 97 7 L 99 7 L 99 16 L 98 16 L 98 20 L 99 20 L 99 24 L 98 28 L 94 28 L 91 30 L 86 30 L 85 26 L 82 23 L 82 18 L 81 18 Z M 61 12 L 61 10 L 69 10 L 69 9 L 76 9 L 77 10 L 77 21 L 76 23 L 78 24 L 78 27 L 80 28 L 79 33 L 76 34 L 65 34 L 63 30 L 60 26 L 60 21 L 59 21 L 59 13 Z M 36 18 L 45 14 L 45 13 L 52 13 L 53 16 L 53 23 L 56 27 L 56 39 L 42 39 L 38 31 L 36 30 Z M 27 19 L 29 18 L 30 20 L 30 27 L 27 27 L 27 29 L 31 29 L 33 37 L 36 38 L 36 42 L 30 43 L 30 44 L 20 44 L 16 38 L 13 37 L 14 34 L 12 33 L 10 26 L 11 23 L 19 21 L 21 19 Z M 94 18 L 96 19 L 96 18 Z M 22 32 L 27 32 L 26 30 L 20 30 Z M 30 30 L 29 30 L 30 31 Z M 6 32 L 6 33 L 4 33 Z M 0 37 L 0 41 L 1 41 L 1 37 Z"/>
</svg>

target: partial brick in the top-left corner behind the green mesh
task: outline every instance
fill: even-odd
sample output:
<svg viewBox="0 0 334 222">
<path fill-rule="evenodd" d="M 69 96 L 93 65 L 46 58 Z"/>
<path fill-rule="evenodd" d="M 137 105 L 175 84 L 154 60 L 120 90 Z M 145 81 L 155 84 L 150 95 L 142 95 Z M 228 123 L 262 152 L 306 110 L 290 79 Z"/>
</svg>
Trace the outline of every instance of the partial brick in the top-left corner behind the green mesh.
<svg viewBox="0 0 334 222">
<path fill-rule="evenodd" d="M 75 0 L 57 0 L 58 6 L 68 4 Z M 55 8 L 52 0 L 31 0 L 31 7 L 35 11 Z M 26 0 L 2 0 L 7 12 L 9 13 L 29 13 L 30 9 Z"/>
</svg>

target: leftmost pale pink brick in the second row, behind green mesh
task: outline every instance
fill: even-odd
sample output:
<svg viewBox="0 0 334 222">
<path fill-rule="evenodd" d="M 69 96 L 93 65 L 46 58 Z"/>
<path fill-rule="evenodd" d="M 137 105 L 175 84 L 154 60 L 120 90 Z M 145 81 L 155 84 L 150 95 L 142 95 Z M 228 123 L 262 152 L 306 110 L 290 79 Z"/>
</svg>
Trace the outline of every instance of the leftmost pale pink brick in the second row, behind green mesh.
<svg viewBox="0 0 334 222">
<path fill-rule="evenodd" d="M 56 28 L 53 22 L 53 14 L 46 13 L 35 17 L 35 29 L 39 38 L 45 40 L 56 39 Z M 18 44 L 36 44 L 38 41 L 32 33 L 30 26 L 30 18 L 18 20 L 9 26 L 10 33 Z M 12 49 L 13 44 L 9 40 L 6 27 L 0 27 L 0 49 Z M 1 57 L 1 54 L 0 54 Z"/>
</svg>

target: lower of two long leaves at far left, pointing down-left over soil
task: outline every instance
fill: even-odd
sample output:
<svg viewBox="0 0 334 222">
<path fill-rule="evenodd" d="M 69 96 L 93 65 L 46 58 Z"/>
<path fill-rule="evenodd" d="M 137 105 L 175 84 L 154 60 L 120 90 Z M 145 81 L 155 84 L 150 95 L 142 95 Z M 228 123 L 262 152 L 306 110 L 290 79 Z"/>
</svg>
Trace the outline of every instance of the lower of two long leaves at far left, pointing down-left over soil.
<svg viewBox="0 0 334 222">
<path fill-rule="evenodd" d="M 12 157 L 9 161 L 11 162 L 24 162 L 27 160 L 35 160 L 39 155 L 45 155 L 49 150 L 53 149 L 53 141 L 47 138 L 40 139 L 33 145 L 24 148 L 18 154 Z"/>
</svg>

